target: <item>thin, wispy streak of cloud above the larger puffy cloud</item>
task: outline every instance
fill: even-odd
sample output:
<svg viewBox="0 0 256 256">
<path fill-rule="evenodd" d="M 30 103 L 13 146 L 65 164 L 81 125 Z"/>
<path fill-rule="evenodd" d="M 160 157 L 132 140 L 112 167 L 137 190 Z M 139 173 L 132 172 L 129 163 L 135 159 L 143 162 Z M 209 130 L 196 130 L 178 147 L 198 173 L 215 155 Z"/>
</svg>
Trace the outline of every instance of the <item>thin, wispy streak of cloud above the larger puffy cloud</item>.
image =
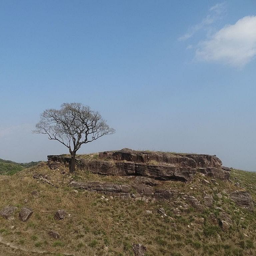
<svg viewBox="0 0 256 256">
<path fill-rule="evenodd" d="M 200 23 L 190 27 L 187 33 L 179 37 L 178 39 L 180 41 L 185 41 L 190 37 L 192 37 L 197 31 L 204 29 L 206 27 L 209 27 L 211 24 L 213 24 L 215 21 L 221 18 L 225 10 L 226 10 L 225 2 L 212 6 L 209 9 L 209 14 Z"/>
</svg>

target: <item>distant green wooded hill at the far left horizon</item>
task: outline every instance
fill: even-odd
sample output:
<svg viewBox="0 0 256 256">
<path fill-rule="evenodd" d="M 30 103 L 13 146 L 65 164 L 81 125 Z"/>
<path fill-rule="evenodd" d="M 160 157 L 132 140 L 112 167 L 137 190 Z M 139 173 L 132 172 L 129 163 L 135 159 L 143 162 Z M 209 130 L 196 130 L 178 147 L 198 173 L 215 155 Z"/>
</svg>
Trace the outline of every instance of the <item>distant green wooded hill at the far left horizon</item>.
<svg viewBox="0 0 256 256">
<path fill-rule="evenodd" d="M 16 163 L 10 160 L 4 160 L 0 158 L 0 175 L 13 175 L 16 172 L 21 171 L 23 168 L 29 168 L 37 165 L 38 162 L 29 162 L 29 163 Z"/>
</svg>

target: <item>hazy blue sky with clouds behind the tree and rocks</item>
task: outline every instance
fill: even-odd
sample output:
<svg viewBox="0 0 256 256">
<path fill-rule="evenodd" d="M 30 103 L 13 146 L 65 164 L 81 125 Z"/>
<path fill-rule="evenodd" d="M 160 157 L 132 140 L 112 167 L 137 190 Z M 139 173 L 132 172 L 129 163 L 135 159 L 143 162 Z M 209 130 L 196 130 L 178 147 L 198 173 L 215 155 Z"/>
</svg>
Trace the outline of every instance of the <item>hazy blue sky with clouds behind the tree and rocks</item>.
<svg viewBox="0 0 256 256">
<path fill-rule="evenodd" d="M 0 1 L 0 158 L 65 153 L 31 130 L 63 102 L 116 129 L 78 153 L 216 154 L 256 171 L 255 1 Z"/>
</svg>

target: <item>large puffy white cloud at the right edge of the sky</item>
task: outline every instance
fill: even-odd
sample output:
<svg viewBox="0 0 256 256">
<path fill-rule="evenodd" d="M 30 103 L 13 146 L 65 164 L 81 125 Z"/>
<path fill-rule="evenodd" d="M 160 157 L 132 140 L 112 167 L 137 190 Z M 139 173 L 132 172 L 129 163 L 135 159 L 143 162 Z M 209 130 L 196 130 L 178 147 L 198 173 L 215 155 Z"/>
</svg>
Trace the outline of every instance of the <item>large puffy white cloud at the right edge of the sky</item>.
<svg viewBox="0 0 256 256">
<path fill-rule="evenodd" d="M 224 62 L 242 67 L 256 55 L 256 16 L 246 16 L 226 25 L 208 40 L 199 43 L 199 60 Z"/>
</svg>

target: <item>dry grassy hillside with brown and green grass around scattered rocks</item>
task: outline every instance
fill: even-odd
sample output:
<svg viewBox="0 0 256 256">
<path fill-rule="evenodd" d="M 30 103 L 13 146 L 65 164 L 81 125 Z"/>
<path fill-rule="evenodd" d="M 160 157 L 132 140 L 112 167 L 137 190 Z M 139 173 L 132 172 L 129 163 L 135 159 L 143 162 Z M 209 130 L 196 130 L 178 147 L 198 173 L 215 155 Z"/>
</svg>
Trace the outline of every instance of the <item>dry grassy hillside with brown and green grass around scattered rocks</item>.
<svg viewBox="0 0 256 256">
<path fill-rule="evenodd" d="M 44 174 L 50 184 L 33 178 L 35 173 Z M 70 175 L 65 166 L 50 170 L 47 165 L 40 165 L 11 177 L 0 175 L 0 209 L 9 204 L 18 207 L 13 220 L 0 217 L 0 255 L 132 256 L 133 243 L 147 247 L 145 256 L 256 255 L 255 212 L 236 205 L 229 197 L 235 190 L 246 190 L 255 202 L 255 173 L 233 169 L 232 181 L 216 182 L 198 173 L 191 182 L 167 181 L 162 186 L 194 196 L 200 202 L 205 194 L 212 195 L 213 206 L 204 211 L 192 206 L 186 209 L 183 206 L 187 202 L 182 197 L 148 203 L 107 195 L 104 199 L 102 194 L 74 190 L 68 185 L 72 179 L 133 183 L 129 176 L 82 171 Z M 236 182 L 240 187 L 235 186 Z M 17 217 L 22 207 L 34 210 L 27 222 Z M 159 208 L 164 208 L 167 217 L 159 214 Z M 180 209 L 178 215 L 176 208 Z M 64 209 L 70 217 L 55 220 L 58 209 Z M 228 230 L 213 225 L 209 218 L 213 213 L 219 219 L 223 212 L 233 222 Z M 48 235 L 52 229 L 59 232 L 60 238 Z"/>
</svg>

